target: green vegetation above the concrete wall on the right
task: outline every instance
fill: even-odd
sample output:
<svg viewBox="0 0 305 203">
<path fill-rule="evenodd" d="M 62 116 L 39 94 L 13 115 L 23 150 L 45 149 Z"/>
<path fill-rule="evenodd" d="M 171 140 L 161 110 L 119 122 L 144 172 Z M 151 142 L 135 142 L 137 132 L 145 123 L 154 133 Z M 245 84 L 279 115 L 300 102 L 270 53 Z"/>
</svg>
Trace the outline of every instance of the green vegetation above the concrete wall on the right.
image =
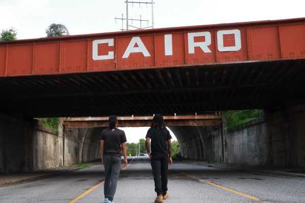
<svg viewBox="0 0 305 203">
<path fill-rule="evenodd" d="M 224 112 L 224 117 L 227 121 L 228 132 L 239 129 L 250 121 L 260 118 L 262 116 L 263 110 L 261 109 Z"/>
</svg>

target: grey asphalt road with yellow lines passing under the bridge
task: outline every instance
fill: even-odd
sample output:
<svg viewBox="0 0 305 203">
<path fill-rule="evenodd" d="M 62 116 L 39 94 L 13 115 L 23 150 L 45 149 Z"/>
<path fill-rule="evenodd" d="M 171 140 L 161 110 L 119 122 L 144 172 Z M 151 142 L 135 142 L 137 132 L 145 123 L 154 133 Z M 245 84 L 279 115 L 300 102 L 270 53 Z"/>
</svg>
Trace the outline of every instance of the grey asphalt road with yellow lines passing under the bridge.
<svg viewBox="0 0 305 203">
<path fill-rule="evenodd" d="M 114 202 L 153 203 L 148 157 L 129 157 L 120 172 Z M 123 167 L 123 165 L 122 165 Z M 0 202 L 103 202 L 104 167 L 0 187 Z M 96 187 L 95 187 L 96 186 Z M 169 170 L 164 202 L 305 202 L 305 179 L 254 175 L 176 161 Z M 78 198 L 78 199 L 76 199 Z"/>
</svg>

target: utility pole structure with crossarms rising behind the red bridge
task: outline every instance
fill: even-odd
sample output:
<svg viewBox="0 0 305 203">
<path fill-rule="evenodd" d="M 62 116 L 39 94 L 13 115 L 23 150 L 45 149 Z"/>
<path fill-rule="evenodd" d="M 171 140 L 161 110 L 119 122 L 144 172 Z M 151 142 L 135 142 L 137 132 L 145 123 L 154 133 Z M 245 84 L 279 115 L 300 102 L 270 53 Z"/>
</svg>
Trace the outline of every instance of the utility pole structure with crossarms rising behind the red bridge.
<svg viewBox="0 0 305 203">
<path fill-rule="evenodd" d="M 130 2 L 129 0 L 126 0 L 126 18 L 124 18 L 123 14 L 122 14 L 122 18 L 114 18 L 115 20 L 122 20 L 122 28 L 121 30 L 124 31 L 124 30 L 129 30 L 129 27 L 133 27 L 133 28 L 136 28 L 136 29 L 145 29 L 145 28 L 154 28 L 154 0 L 151 0 L 151 2 Z M 146 7 L 148 4 L 151 4 L 151 26 L 148 26 L 147 27 L 143 27 L 142 28 L 142 21 L 146 21 L 147 24 L 148 24 L 148 21 L 149 20 L 142 20 L 142 16 L 140 15 L 140 19 L 130 19 L 129 18 L 129 11 L 128 11 L 128 4 L 146 4 Z M 123 21 L 126 20 L 126 29 L 123 28 Z M 129 25 L 129 20 L 134 20 L 134 21 L 140 21 L 140 27 L 136 27 L 136 26 L 133 26 L 133 25 Z"/>
</svg>

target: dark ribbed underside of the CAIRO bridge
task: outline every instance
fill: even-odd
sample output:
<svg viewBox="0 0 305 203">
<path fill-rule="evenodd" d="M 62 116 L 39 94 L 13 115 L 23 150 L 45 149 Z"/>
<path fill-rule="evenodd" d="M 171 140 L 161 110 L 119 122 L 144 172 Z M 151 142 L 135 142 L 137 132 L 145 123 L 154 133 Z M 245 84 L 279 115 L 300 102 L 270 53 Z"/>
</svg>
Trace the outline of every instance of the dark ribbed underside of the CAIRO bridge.
<svg viewBox="0 0 305 203">
<path fill-rule="evenodd" d="M 272 109 L 305 98 L 305 60 L 1 77 L 0 94 L 29 117 Z"/>
</svg>

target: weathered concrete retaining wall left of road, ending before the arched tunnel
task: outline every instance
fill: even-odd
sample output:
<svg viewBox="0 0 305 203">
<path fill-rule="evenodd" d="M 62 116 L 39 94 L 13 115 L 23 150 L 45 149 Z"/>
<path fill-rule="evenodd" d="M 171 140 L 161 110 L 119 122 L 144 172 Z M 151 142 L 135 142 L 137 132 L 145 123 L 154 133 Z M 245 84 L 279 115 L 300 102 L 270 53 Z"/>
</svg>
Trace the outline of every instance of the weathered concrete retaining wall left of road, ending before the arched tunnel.
<svg viewBox="0 0 305 203">
<path fill-rule="evenodd" d="M 37 120 L 29 122 L 0 114 L 0 172 L 62 166 L 62 140 L 61 133 L 57 135 Z"/>
</svg>

